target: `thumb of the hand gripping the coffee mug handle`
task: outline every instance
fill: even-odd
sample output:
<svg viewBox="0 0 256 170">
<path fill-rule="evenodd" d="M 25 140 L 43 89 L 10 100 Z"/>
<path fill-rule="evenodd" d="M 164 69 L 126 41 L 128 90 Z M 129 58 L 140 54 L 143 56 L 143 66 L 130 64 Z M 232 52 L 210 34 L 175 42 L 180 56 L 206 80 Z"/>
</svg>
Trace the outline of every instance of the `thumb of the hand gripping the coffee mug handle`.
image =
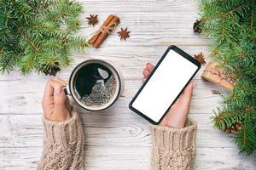
<svg viewBox="0 0 256 170">
<path fill-rule="evenodd" d="M 61 88 L 61 85 L 56 85 L 54 87 L 55 111 L 63 111 L 65 109 L 66 99 L 67 96 Z"/>
</svg>

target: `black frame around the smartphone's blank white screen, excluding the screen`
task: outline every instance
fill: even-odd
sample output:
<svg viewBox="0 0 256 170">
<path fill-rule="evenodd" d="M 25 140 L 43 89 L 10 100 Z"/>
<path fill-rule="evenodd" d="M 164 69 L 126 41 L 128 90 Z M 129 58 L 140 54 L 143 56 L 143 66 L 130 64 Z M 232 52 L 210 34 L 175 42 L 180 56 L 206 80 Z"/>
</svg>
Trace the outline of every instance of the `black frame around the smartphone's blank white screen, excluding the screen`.
<svg viewBox="0 0 256 170">
<path fill-rule="evenodd" d="M 201 68 L 201 63 L 199 61 L 197 61 L 196 59 L 194 59 L 193 57 L 191 57 L 189 54 L 185 53 L 182 49 L 177 48 L 175 45 L 169 46 L 169 48 L 167 48 L 165 54 L 160 58 L 160 60 L 158 61 L 158 63 L 154 66 L 153 71 L 151 71 L 151 73 L 149 74 L 147 80 L 143 83 L 142 87 L 137 91 L 137 94 L 135 94 L 135 96 L 133 97 L 133 99 L 131 99 L 131 102 L 129 104 L 129 108 L 131 109 L 131 111 L 136 112 L 139 116 L 143 116 L 143 118 L 145 118 L 146 120 L 148 120 L 148 122 L 151 122 L 155 125 L 159 124 L 162 119 L 164 118 L 164 116 L 166 116 L 167 111 L 165 112 L 165 114 L 160 118 L 159 122 L 154 122 L 152 119 L 150 119 L 148 116 L 145 116 L 142 112 L 137 111 L 137 109 L 132 107 L 133 102 L 135 101 L 135 99 L 137 99 L 138 94 L 141 93 L 141 91 L 143 90 L 143 88 L 146 86 L 147 82 L 149 81 L 149 79 L 152 77 L 152 75 L 154 74 L 154 71 L 157 70 L 158 66 L 160 65 L 160 63 L 162 62 L 163 59 L 165 59 L 166 54 L 169 53 L 170 50 L 174 50 L 175 52 L 177 52 L 177 54 L 182 55 L 185 59 L 188 59 L 190 62 L 192 62 L 193 64 L 195 64 L 198 68 L 195 71 L 195 73 L 192 75 L 192 77 L 190 77 L 189 81 L 186 83 L 186 85 L 183 87 L 183 89 L 181 90 L 181 92 L 177 95 L 176 99 L 173 100 L 172 104 L 170 105 L 170 107 L 167 109 L 167 111 L 171 108 L 171 106 L 175 103 L 175 101 L 178 99 L 178 97 L 180 96 L 180 94 L 182 94 L 184 88 L 187 87 L 187 85 L 189 84 L 189 82 L 193 79 L 193 77 L 195 77 L 195 74 L 197 73 L 197 71 L 199 71 L 199 69 Z"/>
</svg>

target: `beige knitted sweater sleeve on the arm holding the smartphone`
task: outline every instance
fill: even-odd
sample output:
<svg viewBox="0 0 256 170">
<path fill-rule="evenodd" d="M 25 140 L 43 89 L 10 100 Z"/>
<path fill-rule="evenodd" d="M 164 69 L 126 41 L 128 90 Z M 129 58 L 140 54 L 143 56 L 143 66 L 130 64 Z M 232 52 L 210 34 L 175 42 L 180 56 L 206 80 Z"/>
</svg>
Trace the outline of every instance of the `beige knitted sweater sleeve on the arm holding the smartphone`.
<svg viewBox="0 0 256 170">
<path fill-rule="evenodd" d="M 151 170 L 190 170 L 195 159 L 196 122 L 183 128 L 152 126 L 154 137 Z"/>
</svg>

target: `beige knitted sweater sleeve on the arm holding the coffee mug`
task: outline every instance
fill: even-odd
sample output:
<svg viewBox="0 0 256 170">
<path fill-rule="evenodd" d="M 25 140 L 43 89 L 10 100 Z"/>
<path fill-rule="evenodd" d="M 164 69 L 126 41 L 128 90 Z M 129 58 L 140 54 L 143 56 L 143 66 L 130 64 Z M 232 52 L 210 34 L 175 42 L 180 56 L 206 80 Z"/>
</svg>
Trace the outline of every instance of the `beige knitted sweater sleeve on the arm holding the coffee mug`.
<svg viewBox="0 0 256 170">
<path fill-rule="evenodd" d="M 66 122 L 44 117 L 44 150 L 38 170 L 83 169 L 84 133 L 76 111 Z"/>
</svg>

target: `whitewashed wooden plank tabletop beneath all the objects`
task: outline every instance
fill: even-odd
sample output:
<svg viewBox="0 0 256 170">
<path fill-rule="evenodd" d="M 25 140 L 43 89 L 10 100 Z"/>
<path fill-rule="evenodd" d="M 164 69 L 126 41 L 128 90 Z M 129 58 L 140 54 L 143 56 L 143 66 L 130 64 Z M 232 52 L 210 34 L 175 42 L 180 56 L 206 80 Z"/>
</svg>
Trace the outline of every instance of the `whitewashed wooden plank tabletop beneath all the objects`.
<svg viewBox="0 0 256 170">
<path fill-rule="evenodd" d="M 88 170 L 149 170 L 152 145 L 149 123 L 127 105 L 142 84 L 145 63 L 155 64 L 169 45 L 176 44 L 191 55 L 202 51 L 207 56 L 211 41 L 194 34 L 192 29 L 199 17 L 198 4 L 191 0 L 84 0 L 82 3 L 83 29 L 79 35 L 90 36 L 108 14 L 120 17 L 118 30 L 127 26 L 131 31 L 131 38 L 126 41 L 119 41 L 115 31 L 101 48 L 91 48 L 86 54 L 74 53 L 73 65 L 57 76 L 67 79 L 73 67 L 85 59 L 106 59 L 119 67 L 125 77 L 125 90 L 113 107 L 101 113 L 80 111 L 86 135 L 84 166 Z M 99 14 L 100 24 L 88 26 L 85 17 L 89 14 Z M 212 90 L 220 89 L 201 80 L 201 71 L 194 79 L 197 85 L 189 114 L 198 122 L 195 169 L 255 169 L 253 157 L 240 156 L 231 136 L 212 128 L 212 109 L 220 99 Z M 36 74 L 23 77 L 18 71 L 0 77 L 1 170 L 37 167 L 43 137 L 41 99 L 49 78 Z"/>
</svg>

